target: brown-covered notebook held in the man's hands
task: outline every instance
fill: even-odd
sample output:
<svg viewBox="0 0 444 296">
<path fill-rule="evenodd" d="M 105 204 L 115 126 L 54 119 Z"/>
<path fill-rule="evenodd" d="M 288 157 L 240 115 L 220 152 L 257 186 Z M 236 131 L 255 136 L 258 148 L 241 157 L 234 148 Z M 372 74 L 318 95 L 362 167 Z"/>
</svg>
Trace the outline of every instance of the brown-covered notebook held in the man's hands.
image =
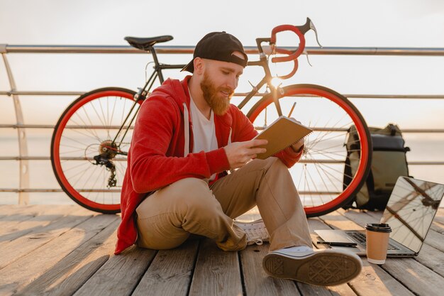
<svg viewBox="0 0 444 296">
<path fill-rule="evenodd" d="M 280 116 L 270 126 L 267 126 L 262 133 L 255 136 L 255 138 L 268 140 L 267 145 L 261 146 L 266 148 L 267 152 L 257 154 L 257 158 L 268 158 L 296 143 L 312 131 L 311 128 L 298 124 L 294 119 Z"/>
</svg>

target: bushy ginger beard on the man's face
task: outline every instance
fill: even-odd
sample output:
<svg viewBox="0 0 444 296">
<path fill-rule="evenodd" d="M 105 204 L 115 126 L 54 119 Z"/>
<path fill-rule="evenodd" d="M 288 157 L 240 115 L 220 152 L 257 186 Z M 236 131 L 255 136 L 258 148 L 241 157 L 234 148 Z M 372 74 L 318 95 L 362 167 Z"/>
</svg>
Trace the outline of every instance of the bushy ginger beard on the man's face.
<svg viewBox="0 0 444 296">
<path fill-rule="evenodd" d="M 204 73 L 204 80 L 201 82 L 201 89 L 206 103 L 209 104 L 214 114 L 223 115 L 228 111 L 230 99 L 234 94 L 233 89 L 229 87 L 215 87 L 206 73 Z M 223 97 L 221 92 L 228 93 L 228 97 Z"/>
</svg>

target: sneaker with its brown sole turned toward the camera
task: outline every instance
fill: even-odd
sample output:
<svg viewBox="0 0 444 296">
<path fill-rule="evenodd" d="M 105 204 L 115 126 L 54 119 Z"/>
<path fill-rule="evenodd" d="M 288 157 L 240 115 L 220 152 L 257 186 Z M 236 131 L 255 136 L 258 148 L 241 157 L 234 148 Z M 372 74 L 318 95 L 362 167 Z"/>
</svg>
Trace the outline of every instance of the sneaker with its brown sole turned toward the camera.
<svg viewBox="0 0 444 296">
<path fill-rule="evenodd" d="M 331 286 L 347 283 L 362 270 L 355 253 L 343 250 L 272 251 L 262 260 L 262 267 L 274 278 L 287 278 L 302 283 Z"/>
</svg>

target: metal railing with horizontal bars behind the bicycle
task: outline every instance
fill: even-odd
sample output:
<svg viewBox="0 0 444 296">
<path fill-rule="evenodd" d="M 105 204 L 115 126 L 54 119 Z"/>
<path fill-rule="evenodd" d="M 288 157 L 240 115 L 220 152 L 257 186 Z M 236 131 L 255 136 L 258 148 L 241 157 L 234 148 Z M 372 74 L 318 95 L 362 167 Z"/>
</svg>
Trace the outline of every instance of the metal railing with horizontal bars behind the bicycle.
<svg viewBox="0 0 444 296">
<path fill-rule="evenodd" d="M 192 54 L 193 46 L 156 46 L 159 54 Z M 287 50 L 296 50 L 294 47 L 284 47 Z M 246 53 L 257 54 L 257 48 L 245 47 Z M 0 53 L 4 60 L 6 74 L 9 80 L 10 90 L 0 91 L 0 95 L 12 97 L 16 113 L 16 124 L 0 124 L 0 128 L 16 128 L 18 133 L 19 155 L 11 157 L 0 157 L 1 160 L 17 160 L 20 162 L 19 188 L 0 188 L 0 192 L 17 192 L 18 203 L 28 203 L 29 192 L 62 192 L 60 188 L 29 188 L 28 161 L 50 160 L 49 156 L 28 155 L 26 129 L 28 128 L 54 128 L 52 125 L 24 124 L 23 113 L 18 96 L 79 96 L 84 92 L 67 91 L 19 91 L 14 81 L 11 67 L 6 55 L 13 53 L 124 53 L 145 54 L 144 51 L 126 45 L 6 45 L 0 44 Z M 309 55 L 406 55 L 406 56 L 444 56 L 444 48 L 345 48 L 345 47 L 307 47 Z M 245 93 L 236 93 L 235 96 L 245 96 Z M 344 94 L 345 97 L 355 99 L 444 99 L 443 95 L 399 95 L 399 94 Z M 444 129 L 403 129 L 403 133 L 444 133 Z M 409 165 L 444 165 L 444 161 L 411 161 Z"/>
</svg>

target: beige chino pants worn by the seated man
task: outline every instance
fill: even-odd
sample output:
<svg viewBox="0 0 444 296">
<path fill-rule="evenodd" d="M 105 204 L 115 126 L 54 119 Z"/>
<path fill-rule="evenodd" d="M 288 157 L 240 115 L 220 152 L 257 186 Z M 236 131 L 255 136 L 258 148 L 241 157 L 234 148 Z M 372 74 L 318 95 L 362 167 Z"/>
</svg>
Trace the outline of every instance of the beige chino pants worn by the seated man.
<svg viewBox="0 0 444 296">
<path fill-rule="evenodd" d="M 292 177 L 274 157 L 252 160 L 211 187 L 205 180 L 187 178 L 157 190 L 136 209 L 138 246 L 175 248 L 198 234 L 214 239 L 224 251 L 242 250 L 246 236 L 233 219 L 256 204 L 270 234 L 270 251 L 311 247 Z"/>
</svg>

